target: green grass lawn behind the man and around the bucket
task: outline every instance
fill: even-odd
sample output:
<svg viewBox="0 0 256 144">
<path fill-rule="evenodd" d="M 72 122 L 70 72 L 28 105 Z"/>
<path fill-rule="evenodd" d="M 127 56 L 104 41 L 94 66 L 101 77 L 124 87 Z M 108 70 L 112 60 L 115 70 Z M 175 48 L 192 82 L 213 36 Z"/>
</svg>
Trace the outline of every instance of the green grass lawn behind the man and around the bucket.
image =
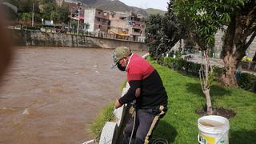
<svg viewBox="0 0 256 144">
<path fill-rule="evenodd" d="M 169 143 L 198 143 L 198 118 L 204 94 L 198 78 L 193 78 L 166 66 L 151 63 L 158 70 L 168 94 L 168 111 L 154 130 L 153 138 L 165 138 Z M 214 107 L 234 110 L 230 118 L 230 144 L 256 142 L 256 94 L 242 89 L 214 85 L 210 90 Z"/>
</svg>

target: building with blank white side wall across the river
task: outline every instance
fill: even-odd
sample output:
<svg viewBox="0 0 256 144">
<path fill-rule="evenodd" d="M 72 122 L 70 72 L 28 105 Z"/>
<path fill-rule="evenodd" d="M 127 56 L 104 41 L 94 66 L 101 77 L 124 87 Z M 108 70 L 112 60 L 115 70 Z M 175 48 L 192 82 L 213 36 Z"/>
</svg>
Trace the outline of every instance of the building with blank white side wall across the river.
<svg viewBox="0 0 256 144">
<path fill-rule="evenodd" d="M 107 33 L 110 25 L 109 15 L 109 13 L 103 10 L 84 10 L 84 23 L 88 23 L 90 25 L 88 31 Z"/>
</svg>

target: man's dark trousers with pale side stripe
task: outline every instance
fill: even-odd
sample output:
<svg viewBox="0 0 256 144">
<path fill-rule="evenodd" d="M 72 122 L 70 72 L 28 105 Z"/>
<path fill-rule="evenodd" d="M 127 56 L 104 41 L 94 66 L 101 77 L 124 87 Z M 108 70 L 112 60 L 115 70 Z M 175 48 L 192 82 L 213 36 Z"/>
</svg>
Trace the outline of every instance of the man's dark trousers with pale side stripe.
<svg viewBox="0 0 256 144">
<path fill-rule="evenodd" d="M 154 127 L 157 126 L 159 118 L 166 113 L 164 106 L 160 106 L 158 110 L 153 109 L 138 109 L 136 110 L 136 121 L 134 126 L 134 118 L 126 123 L 126 128 L 123 132 L 123 144 L 128 144 L 130 135 L 134 126 L 133 141 L 131 143 L 142 144 L 149 143 Z"/>
</svg>

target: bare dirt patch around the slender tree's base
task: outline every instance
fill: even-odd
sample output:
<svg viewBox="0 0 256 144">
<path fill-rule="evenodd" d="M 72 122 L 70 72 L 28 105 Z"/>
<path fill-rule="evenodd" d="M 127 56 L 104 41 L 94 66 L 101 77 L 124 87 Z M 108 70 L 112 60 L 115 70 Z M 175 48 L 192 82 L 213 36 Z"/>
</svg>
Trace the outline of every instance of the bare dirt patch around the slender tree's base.
<svg viewBox="0 0 256 144">
<path fill-rule="evenodd" d="M 225 118 L 232 118 L 236 114 L 234 112 L 234 110 L 228 110 L 228 109 L 225 109 L 223 107 L 216 107 L 213 110 L 214 110 L 213 115 L 219 115 L 219 116 L 222 116 L 222 117 L 225 117 Z M 195 113 L 198 114 L 198 115 L 201 115 L 201 116 L 207 115 L 205 109 L 198 109 L 198 110 L 195 111 Z"/>
</svg>

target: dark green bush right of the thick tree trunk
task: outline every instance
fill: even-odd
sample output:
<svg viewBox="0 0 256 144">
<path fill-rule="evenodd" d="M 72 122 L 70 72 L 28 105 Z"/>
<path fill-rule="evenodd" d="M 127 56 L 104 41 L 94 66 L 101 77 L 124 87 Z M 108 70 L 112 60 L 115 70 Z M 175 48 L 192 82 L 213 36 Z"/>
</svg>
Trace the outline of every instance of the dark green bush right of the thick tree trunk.
<svg viewBox="0 0 256 144">
<path fill-rule="evenodd" d="M 238 77 L 238 86 L 244 90 L 256 92 L 256 76 L 242 73 L 240 77 Z"/>
</svg>

